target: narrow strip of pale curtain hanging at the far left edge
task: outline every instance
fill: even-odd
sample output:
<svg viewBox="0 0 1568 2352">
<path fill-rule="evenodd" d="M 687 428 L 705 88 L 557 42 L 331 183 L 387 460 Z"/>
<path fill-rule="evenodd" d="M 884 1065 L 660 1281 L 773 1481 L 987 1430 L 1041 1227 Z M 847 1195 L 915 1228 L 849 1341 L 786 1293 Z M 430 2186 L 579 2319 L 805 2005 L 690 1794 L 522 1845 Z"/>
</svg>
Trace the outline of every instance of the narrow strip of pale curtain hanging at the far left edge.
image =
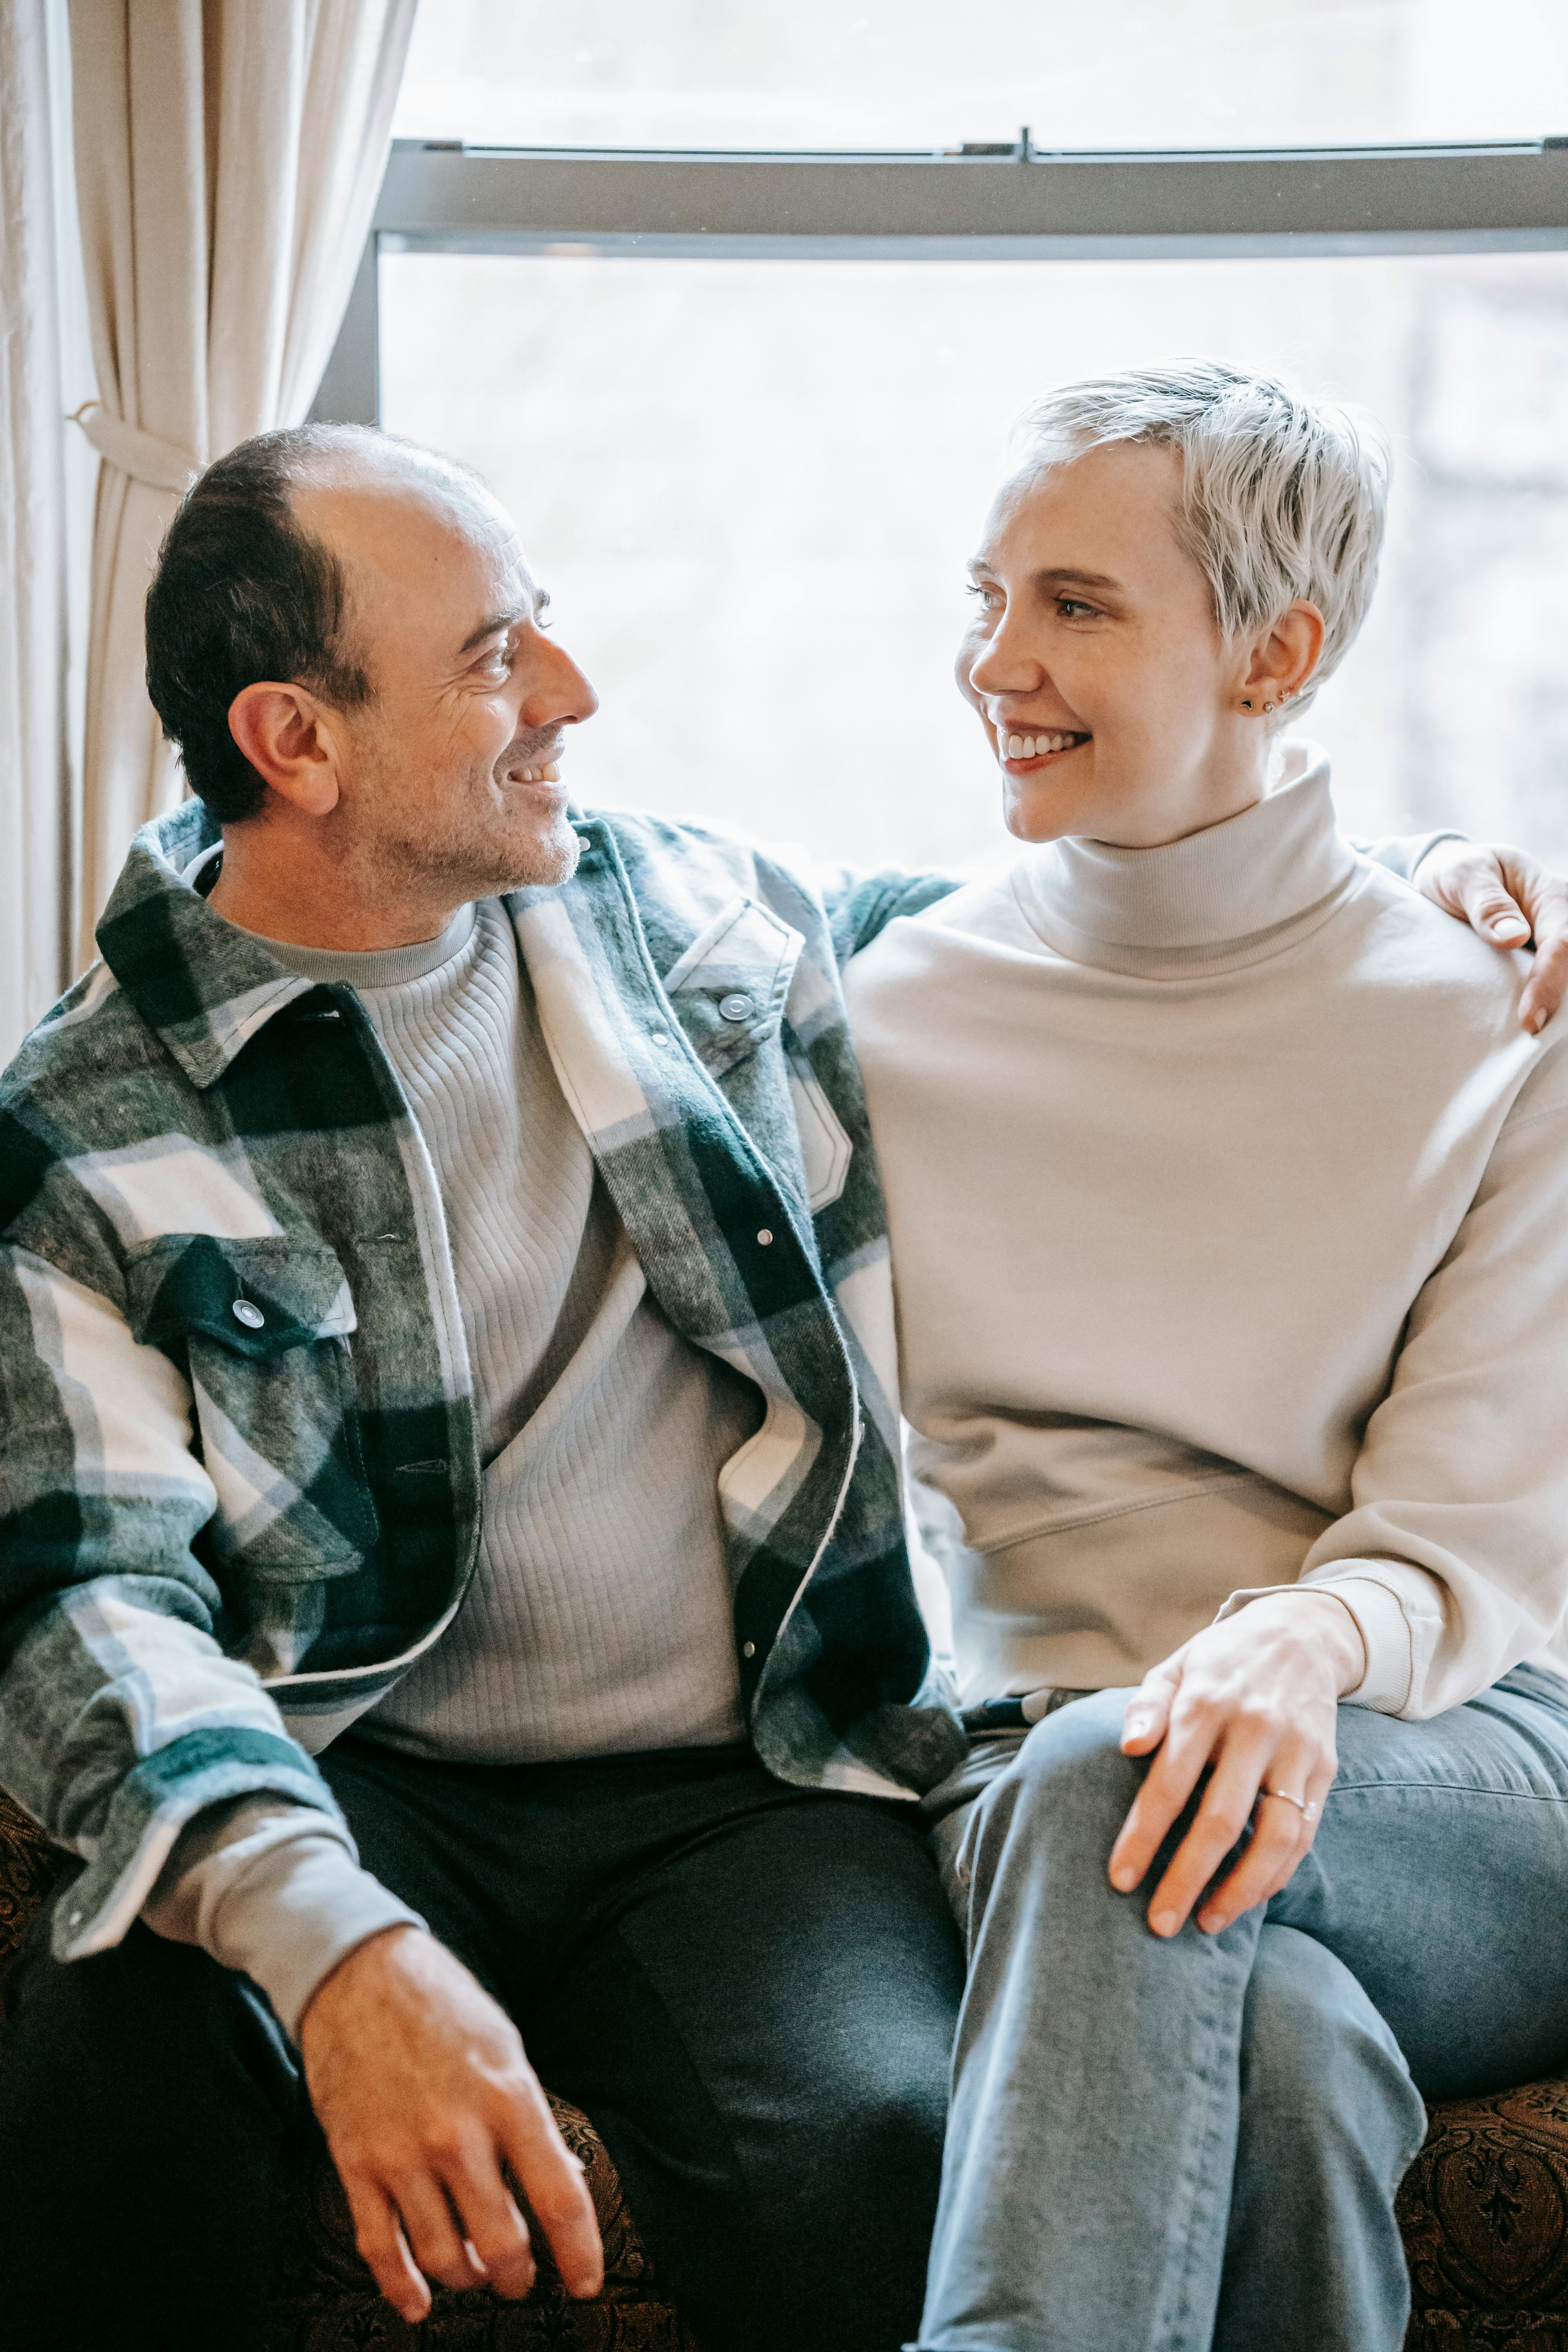
<svg viewBox="0 0 1568 2352">
<path fill-rule="evenodd" d="M 59 64 L 59 61 L 56 61 Z M 66 981 L 66 452 L 45 0 L 0 5 L 0 1063 Z"/>
</svg>

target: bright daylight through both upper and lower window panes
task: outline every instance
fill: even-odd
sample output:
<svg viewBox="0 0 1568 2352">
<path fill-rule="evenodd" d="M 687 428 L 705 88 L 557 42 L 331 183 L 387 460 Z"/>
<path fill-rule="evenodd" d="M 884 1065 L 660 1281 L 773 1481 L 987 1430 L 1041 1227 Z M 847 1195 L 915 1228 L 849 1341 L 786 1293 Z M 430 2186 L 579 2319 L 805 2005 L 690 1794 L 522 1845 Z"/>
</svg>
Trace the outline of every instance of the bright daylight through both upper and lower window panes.
<svg viewBox="0 0 1568 2352">
<path fill-rule="evenodd" d="M 1046 151 L 1568 134 L 1568 9 L 1500 0 L 1479 35 L 1472 0 L 425 0 L 397 132 L 907 151 L 1020 122 Z M 1006 430 L 1048 383 L 1175 353 L 1392 430 L 1382 586 L 1309 717 L 1347 826 L 1568 856 L 1566 341 L 1549 249 L 381 259 L 383 421 L 484 470 L 604 691 L 581 797 L 856 861 L 1006 854 L 950 682 Z"/>
</svg>

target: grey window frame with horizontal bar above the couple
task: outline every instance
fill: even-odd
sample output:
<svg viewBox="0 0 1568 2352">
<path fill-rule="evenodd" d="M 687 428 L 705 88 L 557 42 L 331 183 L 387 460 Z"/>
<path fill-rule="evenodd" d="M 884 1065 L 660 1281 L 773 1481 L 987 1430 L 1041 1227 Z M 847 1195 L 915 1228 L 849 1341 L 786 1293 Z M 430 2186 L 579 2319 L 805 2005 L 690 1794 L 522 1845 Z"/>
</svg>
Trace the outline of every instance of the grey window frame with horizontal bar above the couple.
<svg viewBox="0 0 1568 2352">
<path fill-rule="evenodd" d="M 383 252 L 1173 261 L 1568 249 L 1568 139 L 933 155 L 395 139 L 310 414 L 381 421 Z"/>
</svg>

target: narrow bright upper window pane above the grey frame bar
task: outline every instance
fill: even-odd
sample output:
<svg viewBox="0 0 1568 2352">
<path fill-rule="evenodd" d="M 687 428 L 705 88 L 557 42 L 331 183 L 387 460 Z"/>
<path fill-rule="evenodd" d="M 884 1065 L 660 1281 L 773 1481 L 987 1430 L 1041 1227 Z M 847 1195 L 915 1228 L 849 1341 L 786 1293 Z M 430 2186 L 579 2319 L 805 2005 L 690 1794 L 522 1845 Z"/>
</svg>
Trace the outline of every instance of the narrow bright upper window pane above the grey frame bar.
<svg viewBox="0 0 1568 2352">
<path fill-rule="evenodd" d="M 512 146 L 1568 132 L 1563 0 L 423 0 L 397 132 Z"/>
</svg>

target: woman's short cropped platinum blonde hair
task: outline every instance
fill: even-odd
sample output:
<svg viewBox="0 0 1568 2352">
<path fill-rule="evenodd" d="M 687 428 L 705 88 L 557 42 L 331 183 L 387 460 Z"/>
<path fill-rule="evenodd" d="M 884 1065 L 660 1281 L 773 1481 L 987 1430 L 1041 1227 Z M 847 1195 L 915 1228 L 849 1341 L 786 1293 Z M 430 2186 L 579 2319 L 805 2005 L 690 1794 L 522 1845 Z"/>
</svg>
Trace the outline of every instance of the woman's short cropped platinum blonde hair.
<svg viewBox="0 0 1568 2352">
<path fill-rule="evenodd" d="M 1025 466 L 1107 442 L 1175 449 L 1178 539 L 1225 640 L 1305 597 L 1324 616 L 1324 654 L 1291 715 L 1338 670 L 1378 586 L 1389 496 L 1389 447 L 1371 419 L 1225 360 L 1171 360 L 1063 383 L 1023 412 L 1013 442 Z"/>
</svg>

